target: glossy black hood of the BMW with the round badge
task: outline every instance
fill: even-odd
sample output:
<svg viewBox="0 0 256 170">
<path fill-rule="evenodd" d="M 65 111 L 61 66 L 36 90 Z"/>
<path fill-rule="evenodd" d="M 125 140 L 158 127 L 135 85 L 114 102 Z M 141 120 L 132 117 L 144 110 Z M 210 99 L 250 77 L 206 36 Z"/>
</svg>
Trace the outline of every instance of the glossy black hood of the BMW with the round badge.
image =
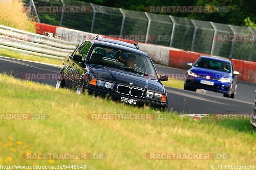
<svg viewBox="0 0 256 170">
<path fill-rule="evenodd" d="M 148 91 L 164 93 L 164 87 L 158 80 L 147 78 L 146 76 L 101 65 L 89 64 L 89 69 L 93 78 L 113 82 L 116 84 L 127 85 Z M 133 83 L 133 85 L 129 85 Z"/>
</svg>

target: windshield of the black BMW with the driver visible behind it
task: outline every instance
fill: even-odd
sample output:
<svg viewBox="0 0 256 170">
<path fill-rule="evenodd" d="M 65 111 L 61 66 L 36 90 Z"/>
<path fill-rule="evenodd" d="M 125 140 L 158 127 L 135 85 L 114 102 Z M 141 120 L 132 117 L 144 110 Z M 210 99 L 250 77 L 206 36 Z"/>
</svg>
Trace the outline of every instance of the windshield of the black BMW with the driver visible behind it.
<svg viewBox="0 0 256 170">
<path fill-rule="evenodd" d="M 89 63 L 96 63 L 157 79 L 157 74 L 150 58 L 132 51 L 95 46 Z"/>
</svg>

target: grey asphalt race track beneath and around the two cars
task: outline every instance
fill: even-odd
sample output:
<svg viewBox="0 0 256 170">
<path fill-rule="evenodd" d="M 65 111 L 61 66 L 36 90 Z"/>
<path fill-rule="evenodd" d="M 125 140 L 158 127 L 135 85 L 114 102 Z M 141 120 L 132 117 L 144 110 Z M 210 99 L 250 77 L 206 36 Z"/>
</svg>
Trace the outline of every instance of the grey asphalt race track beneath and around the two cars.
<svg viewBox="0 0 256 170">
<path fill-rule="evenodd" d="M 158 74 L 186 72 L 158 64 L 155 66 Z M 12 73 L 16 78 L 22 78 L 25 73 L 59 73 L 60 68 L 56 65 L 0 56 L 0 72 Z M 57 80 L 36 81 L 55 86 Z M 171 87 L 165 89 L 168 93 L 168 110 L 172 109 L 184 114 L 251 113 L 256 84 L 239 81 L 235 99 L 224 98 L 221 93 L 210 91 L 202 94 Z"/>
</svg>

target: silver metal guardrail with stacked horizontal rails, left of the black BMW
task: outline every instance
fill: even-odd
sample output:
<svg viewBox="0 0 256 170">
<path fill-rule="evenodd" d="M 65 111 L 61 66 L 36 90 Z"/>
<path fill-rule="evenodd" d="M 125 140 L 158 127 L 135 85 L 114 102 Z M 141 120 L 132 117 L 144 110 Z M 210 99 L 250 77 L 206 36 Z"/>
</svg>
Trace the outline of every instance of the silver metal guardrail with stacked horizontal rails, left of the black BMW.
<svg viewBox="0 0 256 170">
<path fill-rule="evenodd" d="M 67 56 L 76 46 L 75 42 L 0 25 L 0 48 L 3 49 L 23 54 L 60 58 Z"/>
</svg>

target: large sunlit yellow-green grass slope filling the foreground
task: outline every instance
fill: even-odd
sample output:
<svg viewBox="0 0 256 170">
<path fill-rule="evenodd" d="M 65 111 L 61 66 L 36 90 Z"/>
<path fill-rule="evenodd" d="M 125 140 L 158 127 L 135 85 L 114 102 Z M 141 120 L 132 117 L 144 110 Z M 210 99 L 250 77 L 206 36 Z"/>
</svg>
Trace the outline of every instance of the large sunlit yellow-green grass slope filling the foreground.
<svg viewBox="0 0 256 170">
<path fill-rule="evenodd" d="M 170 120 L 92 121 L 89 113 L 153 113 L 0 74 L 1 113 L 45 113 L 48 120 L 0 121 L 0 165 L 82 165 L 88 169 L 211 169 L 254 165 L 256 136 L 169 113 Z M 25 152 L 106 153 L 104 160 L 25 160 Z M 229 153 L 228 160 L 148 160 L 150 152 Z"/>
</svg>

